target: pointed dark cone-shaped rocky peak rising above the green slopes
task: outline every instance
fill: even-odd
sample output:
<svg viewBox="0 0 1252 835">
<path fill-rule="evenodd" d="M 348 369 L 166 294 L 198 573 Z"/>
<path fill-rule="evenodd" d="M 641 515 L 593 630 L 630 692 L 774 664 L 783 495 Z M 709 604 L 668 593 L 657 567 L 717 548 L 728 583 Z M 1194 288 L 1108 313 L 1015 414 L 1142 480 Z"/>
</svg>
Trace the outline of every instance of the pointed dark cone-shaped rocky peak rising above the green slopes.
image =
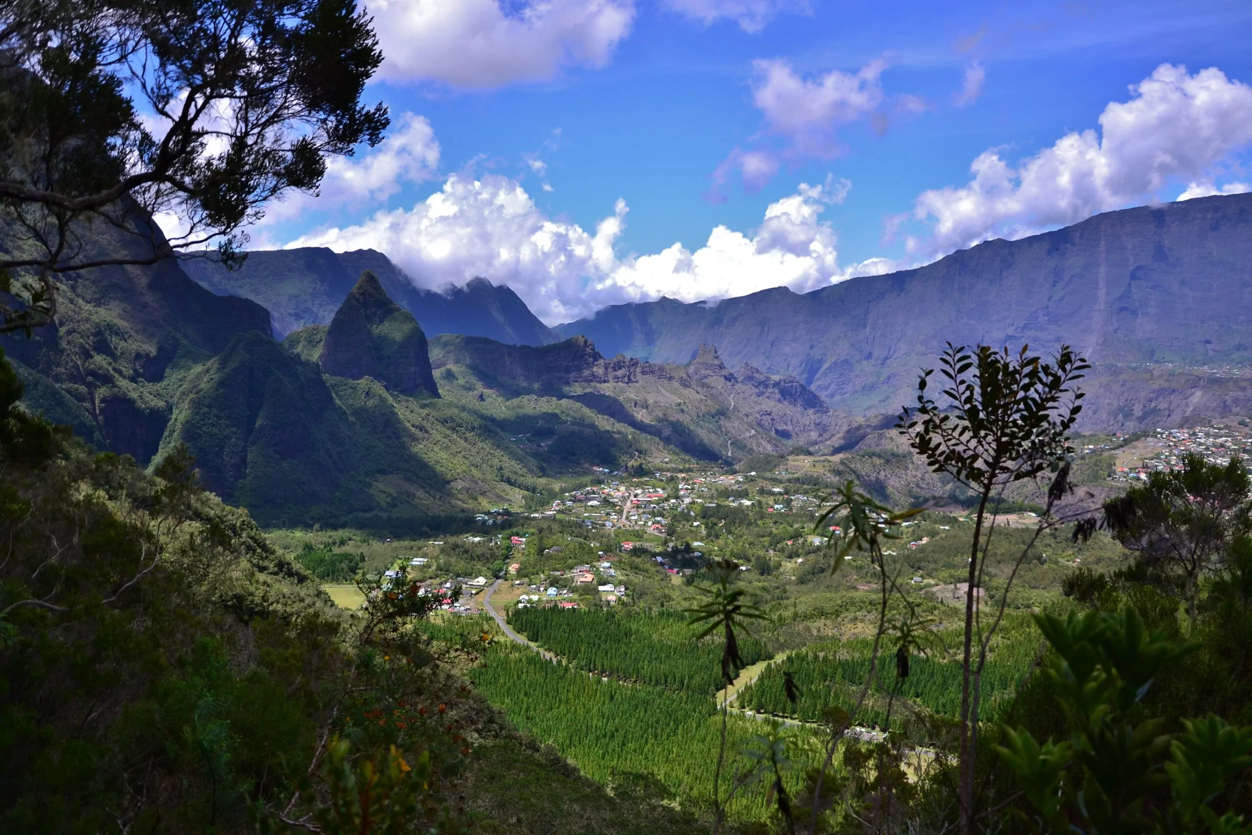
<svg viewBox="0 0 1252 835">
<path fill-rule="evenodd" d="M 331 319 L 318 364 L 336 377 L 373 377 L 402 394 L 424 391 L 439 396 L 426 334 L 412 313 L 391 300 L 369 270 L 361 274 Z"/>
</svg>

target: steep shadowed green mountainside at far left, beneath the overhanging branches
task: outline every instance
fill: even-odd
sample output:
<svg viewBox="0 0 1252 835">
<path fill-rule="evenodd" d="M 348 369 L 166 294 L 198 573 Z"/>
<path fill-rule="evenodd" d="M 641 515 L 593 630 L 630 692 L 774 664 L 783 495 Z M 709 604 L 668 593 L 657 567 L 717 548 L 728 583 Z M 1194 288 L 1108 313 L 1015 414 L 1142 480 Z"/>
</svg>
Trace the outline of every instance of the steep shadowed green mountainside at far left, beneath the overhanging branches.
<svg viewBox="0 0 1252 835">
<path fill-rule="evenodd" d="M 134 219 L 139 234 L 84 225 L 84 257 L 145 258 L 160 230 Z M 0 346 L 26 383 L 28 408 L 74 427 L 96 448 L 146 464 L 187 374 L 240 333 L 270 332 L 254 302 L 215 295 L 164 259 L 110 265 L 59 278 L 58 315 L 28 339 Z"/>
</svg>

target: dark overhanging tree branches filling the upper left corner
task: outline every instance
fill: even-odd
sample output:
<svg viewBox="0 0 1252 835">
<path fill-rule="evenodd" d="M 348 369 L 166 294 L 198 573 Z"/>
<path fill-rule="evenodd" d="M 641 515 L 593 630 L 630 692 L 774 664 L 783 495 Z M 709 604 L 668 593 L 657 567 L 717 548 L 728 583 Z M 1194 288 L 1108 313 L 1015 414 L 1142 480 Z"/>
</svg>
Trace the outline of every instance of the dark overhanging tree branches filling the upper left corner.
<svg viewBox="0 0 1252 835">
<path fill-rule="evenodd" d="M 234 258 L 267 200 L 382 140 L 381 61 L 353 0 L 0 0 L 0 333 L 51 322 L 61 273 Z M 101 255 L 86 222 L 136 245 Z"/>
</svg>

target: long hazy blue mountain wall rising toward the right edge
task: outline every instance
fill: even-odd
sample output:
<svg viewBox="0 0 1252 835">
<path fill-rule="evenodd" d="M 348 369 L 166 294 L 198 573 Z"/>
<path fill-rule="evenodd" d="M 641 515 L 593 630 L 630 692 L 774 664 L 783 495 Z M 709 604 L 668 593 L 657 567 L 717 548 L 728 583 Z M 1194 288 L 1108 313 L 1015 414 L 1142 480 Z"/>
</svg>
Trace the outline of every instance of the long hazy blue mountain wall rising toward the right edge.
<svg viewBox="0 0 1252 835">
<path fill-rule="evenodd" d="M 615 305 L 557 330 L 654 362 L 716 344 L 859 414 L 913 402 L 918 369 L 949 341 L 1065 342 L 1096 364 L 1085 429 L 1248 413 L 1252 381 L 1212 369 L 1252 363 L 1252 194 L 1111 212 L 803 295 Z"/>
</svg>

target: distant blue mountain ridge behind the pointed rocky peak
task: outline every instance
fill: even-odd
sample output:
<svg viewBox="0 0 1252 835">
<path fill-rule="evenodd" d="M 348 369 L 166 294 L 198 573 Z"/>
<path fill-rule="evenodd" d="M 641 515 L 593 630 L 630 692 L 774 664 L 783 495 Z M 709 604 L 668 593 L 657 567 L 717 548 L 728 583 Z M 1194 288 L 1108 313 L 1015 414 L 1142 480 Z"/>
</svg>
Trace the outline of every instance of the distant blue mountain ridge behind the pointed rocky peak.
<svg viewBox="0 0 1252 835">
<path fill-rule="evenodd" d="M 416 287 L 386 255 L 373 249 L 334 253 L 322 247 L 248 253 L 237 270 L 214 255 L 184 262 L 187 272 L 214 293 L 265 305 L 279 337 L 313 324 L 329 324 L 357 277 L 372 272 L 387 294 L 412 313 L 427 336 L 464 333 L 507 344 L 542 346 L 560 337 L 531 313 L 508 287 L 476 278 L 444 292 Z"/>
</svg>

